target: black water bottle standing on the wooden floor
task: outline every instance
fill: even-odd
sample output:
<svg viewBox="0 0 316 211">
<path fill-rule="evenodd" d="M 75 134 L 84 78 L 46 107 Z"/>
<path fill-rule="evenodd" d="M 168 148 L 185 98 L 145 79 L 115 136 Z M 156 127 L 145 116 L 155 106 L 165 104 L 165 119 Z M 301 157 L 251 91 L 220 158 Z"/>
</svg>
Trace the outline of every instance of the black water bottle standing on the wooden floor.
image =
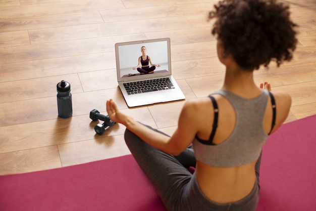
<svg viewBox="0 0 316 211">
<path fill-rule="evenodd" d="M 69 118 L 72 116 L 70 83 L 65 80 L 57 83 L 57 107 L 60 117 Z"/>
</svg>

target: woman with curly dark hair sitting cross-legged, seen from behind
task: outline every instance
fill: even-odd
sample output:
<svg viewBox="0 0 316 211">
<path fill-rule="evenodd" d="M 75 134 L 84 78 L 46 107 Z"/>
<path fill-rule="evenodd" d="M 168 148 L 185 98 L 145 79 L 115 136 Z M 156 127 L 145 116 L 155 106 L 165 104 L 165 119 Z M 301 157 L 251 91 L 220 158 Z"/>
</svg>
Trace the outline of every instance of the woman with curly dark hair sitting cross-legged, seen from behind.
<svg viewBox="0 0 316 211">
<path fill-rule="evenodd" d="M 167 210 L 251 211 L 259 200 L 262 146 L 291 106 L 287 93 L 270 92 L 267 82 L 256 86 L 253 71 L 291 60 L 296 25 L 275 0 L 224 0 L 209 18 L 216 18 L 212 33 L 226 66 L 224 85 L 186 101 L 171 137 L 125 115 L 113 100 L 107 111 L 126 126 L 126 144 Z"/>
</svg>

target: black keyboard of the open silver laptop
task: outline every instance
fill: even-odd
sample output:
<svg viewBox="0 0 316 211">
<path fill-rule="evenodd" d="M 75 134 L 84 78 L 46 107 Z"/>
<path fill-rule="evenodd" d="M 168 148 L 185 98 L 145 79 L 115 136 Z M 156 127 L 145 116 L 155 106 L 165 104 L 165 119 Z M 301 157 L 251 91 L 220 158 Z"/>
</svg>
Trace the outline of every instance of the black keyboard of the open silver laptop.
<svg viewBox="0 0 316 211">
<path fill-rule="evenodd" d="M 155 78 L 123 83 L 128 95 L 175 89 L 170 78 Z"/>
</svg>

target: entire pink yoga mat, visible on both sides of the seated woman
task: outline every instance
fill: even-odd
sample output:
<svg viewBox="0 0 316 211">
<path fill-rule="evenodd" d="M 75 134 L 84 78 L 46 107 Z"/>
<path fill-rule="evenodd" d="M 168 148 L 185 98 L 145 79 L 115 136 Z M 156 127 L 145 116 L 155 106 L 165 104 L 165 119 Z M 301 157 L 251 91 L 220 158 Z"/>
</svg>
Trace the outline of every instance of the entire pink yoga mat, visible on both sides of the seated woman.
<svg viewBox="0 0 316 211">
<path fill-rule="evenodd" d="M 316 115 L 290 122 L 264 147 L 257 211 L 314 211 Z M 0 176 L 0 211 L 166 211 L 131 155 Z M 246 211 L 246 210 L 245 210 Z"/>
</svg>

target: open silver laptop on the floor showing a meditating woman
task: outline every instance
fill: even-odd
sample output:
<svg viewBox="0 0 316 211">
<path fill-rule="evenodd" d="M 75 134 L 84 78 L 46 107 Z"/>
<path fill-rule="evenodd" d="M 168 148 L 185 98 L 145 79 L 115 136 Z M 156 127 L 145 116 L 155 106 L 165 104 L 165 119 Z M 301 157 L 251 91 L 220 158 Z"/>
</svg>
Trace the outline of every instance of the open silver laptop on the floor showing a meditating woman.
<svg viewBox="0 0 316 211">
<path fill-rule="evenodd" d="M 115 54 L 119 87 L 129 107 L 185 99 L 172 76 L 170 38 L 117 43 Z"/>
</svg>

